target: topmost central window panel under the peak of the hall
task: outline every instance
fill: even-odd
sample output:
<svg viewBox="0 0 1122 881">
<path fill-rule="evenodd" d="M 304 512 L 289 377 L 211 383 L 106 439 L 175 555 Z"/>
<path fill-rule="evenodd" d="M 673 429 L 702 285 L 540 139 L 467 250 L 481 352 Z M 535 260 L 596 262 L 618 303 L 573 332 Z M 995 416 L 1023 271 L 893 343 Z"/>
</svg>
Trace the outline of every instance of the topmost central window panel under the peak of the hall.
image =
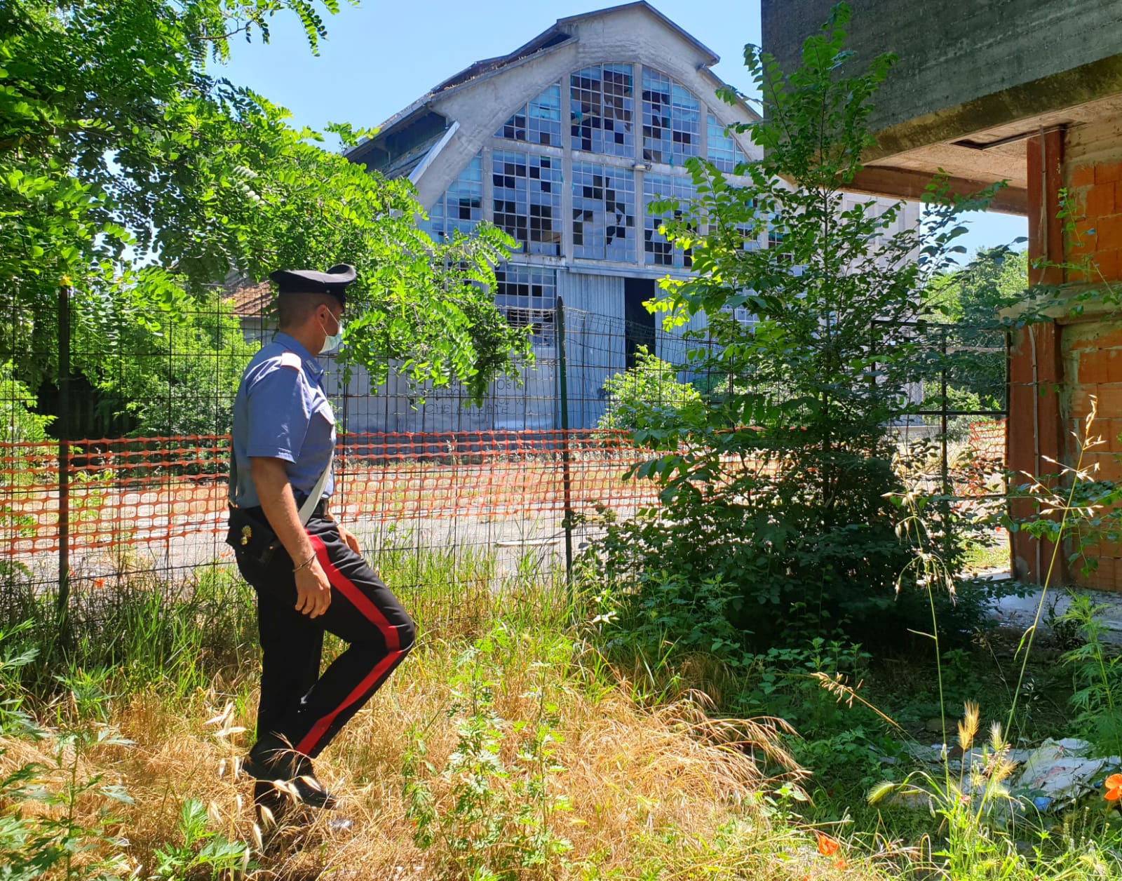
<svg viewBox="0 0 1122 881">
<path fill-rule="evenodd" d="M 598 64 L 569 77 L 571 146 L 576 150 L 632 156 L 635 86 L 629 64 Z"/>
</svg>

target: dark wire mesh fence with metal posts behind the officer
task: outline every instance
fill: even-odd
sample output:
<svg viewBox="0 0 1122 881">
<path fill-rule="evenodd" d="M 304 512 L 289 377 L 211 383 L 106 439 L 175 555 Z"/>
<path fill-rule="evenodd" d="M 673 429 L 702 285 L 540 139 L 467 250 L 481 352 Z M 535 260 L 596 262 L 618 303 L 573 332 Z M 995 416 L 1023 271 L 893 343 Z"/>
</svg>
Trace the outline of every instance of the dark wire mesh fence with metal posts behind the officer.
<svg viewBox="0 0 1122 881">
<path fill-rule="evenodd" d="M 215 288 L 162 321 L 99 323 L 95 303 L 64 292 L 33 333 L 13 309 L 0 342 L 9 578 L 89 596 L 135 573 L 174 581 L 232 563 L 222 541 L 229 428 L 241 370 L 273 334 L 264 297 Z M 691 367 L 690 349 L 711 345 L 703 333 L 666 332 L 654 316 L 562 308 L 508 318 L 530 327 L 535 360 L 517 380 L 494 383 L 482 406 L 456 387 L 411 388 L 392 364 L 377 385 L 325 359 L 340 428 L 332 506 L 376 560 L 435 554 L 452 579 L 477 577 L 466 575 L 475 563 L 457 567 L 480 559 L 496 578 L 554 577 L 588 538 L 579 515 L 657 503 L 653 484 L 625 479 L 651 453 L 613 421 L 613 377 L 645 351 L 664 374 L 655 395 L 701 396 L 720 379 Z M 919 354 L 919 406 L 891 430 L 902 448 L 931 440 L 929 470 L 951 494 L 988 492 L 1004 453 L 1002 334 L 919 324 L 899 333 Z"/>
</svg>

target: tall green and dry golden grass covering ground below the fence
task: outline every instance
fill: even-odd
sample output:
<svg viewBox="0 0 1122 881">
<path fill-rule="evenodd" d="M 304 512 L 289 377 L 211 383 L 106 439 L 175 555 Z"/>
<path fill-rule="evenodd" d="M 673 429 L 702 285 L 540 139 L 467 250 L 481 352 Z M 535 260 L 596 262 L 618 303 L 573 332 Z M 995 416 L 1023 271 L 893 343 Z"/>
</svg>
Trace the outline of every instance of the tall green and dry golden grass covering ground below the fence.
<svg viewBox="0 0 1122 881">
<path fill-rule="evenodd" d="M 98 781 L 67 802 L 71 841 L 85 855 L 59 877 L 109 859 L 136 878 L 840 871 L 783 822 L 783 797 L 769 796 L 795 770 L 774 727 L 711 719 L 696 694 L 640 706 L 583 639 L 579 594 L 537 560 L 393 547 L 375 559 L 422 637 L 318 761 L 350 828 L 330 813 L 302 826 L 255 824 L 238 773 L 256 699 L 252 596 L 231 570 L 202 567 L 183 585 L 107 579 L 80 597 L 64 640 L 50 637 L 52 597 L 7 595 L 4 621 L 28 623 L 0 625 L 0 654 L 42 651 L 12 654 L 22 661 L 4 672 L 38 740 L 3 726 L 0 781 L 25 774 L 40 792 L 70 791 L 50 770 L 56 754 L 73 781 Z M 74 731 L 83 737 L 67 746 L 63 733 Z M 788 773 L 772 778 L 784 763 Z M 110 780 L 131 804 L 107 813 Z M 26 847 L 62 815 L 33 807 L 20 786 L 0 787 L 0 816 L 27 833 Z M 16 853 L 6 828 L 0 852 Z M 847 877 L 862 866 L 855 860 Z"/>
</svg>

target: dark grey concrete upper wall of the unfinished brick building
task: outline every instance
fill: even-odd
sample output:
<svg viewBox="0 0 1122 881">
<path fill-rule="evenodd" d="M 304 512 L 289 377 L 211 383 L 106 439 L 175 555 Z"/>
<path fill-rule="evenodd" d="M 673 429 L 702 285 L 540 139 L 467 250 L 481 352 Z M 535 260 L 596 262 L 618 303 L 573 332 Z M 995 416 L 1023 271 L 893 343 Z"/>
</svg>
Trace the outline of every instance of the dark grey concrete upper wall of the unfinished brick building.
<svg viewBox="0 0 1122 881">
<path fill-rule="evenodd" d="M 764 48 L 792 70 L 803 38 L 827 19 L 833 4 L 762 0 Z M 867 64 L 883 52 L 900 58 L 877 93 L 874 129 L 1067 74 L 1122 52 L 1118 0 L 852 0 L 850 6 L 847 48 L 857 53 L 857 62 Z M 1026 116 L 1040 112 L 1049 99 L 1072 102 L 1073 83 L 1068 80 L 1059 95 L 1050 95 L 1041 83 Z"/>
</svg>

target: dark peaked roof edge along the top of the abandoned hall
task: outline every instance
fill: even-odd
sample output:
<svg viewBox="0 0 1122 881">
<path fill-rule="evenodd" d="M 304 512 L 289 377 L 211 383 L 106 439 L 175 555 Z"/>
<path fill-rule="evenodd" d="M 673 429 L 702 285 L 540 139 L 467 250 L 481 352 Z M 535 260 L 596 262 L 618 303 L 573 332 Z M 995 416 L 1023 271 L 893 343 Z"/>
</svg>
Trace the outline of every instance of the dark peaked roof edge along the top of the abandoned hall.
<svg viewBox="0 0 1122 881">
<path fill-rule="evenodd" d="M 671 19 L 666 18 L 662 12 L 651 6 L 646 0 L 636 0 L 631 3 L 622 3 L 620 6 L 608 7 L 606 9 L 597 9 L 591 12 L 581 12 L 576 16 L 568 16 L 567 18 L 559 18 L 557 22 L 543 30 L 532 40 L 523 46 L 519 46 L 514 52 L 507 55 L 499 55 L 494 58 L 485 58 L 478 61 L 475 64 L 465 67 L 459 73 L 453 76 L 448 77 L 443 82 L 433 86 L 426 94 L 419 98 L 408 107 L 394 113 L 389 119 L 378 126 L 378 134 L 375 137 L 369 138 L 359 143 L 357 146 L 351 147 L 344 154 L 347 158 L 351 162 L 361 162 L 362 157 L 368 154 L 379 141 L 381 141 L 386 136 L 388 136 L 393 130 L 399 129 L 404 126 L 408 126 L 414 118 L 420 118 L 426 112 L 432 112 L 429 110 L 427 105 L 438 94 L 443 94 L 458 89 L 466 83 L 479 79 L 480 76 L 486 76 L 493 74 L 496 71 L 500 71 L 504 67 L 508 67 L 517 62 L 528 58 L 532 55 L 536 55 L 542 52 L 549 52 L 554 47 L 564 45 L 572 39 L 572 36 L 568 33 L 572 25 L 579 24 L 594 18 L 600 18 L 607 15 L 615 15 L 623 12 L 627 9 L 640 9 L 643 12 L 657 19 L 662 25 L 664 25 L 670 30 L 681 36 L 684 40 L 692 44 L 702 55 L 705 55 L 705 66 L 711 67 L 714 64 L 720 61 L 720 56 L 717 55 L 712 49 L 706 46 L 703 43 L 693 37 L 689 31 L 679 27 Z M 717 81 L 720 82 L 719 77 L 708 71 L 708 73 Z M 751 112 L 751 110 L 749 110 Z"/>
</svg>

